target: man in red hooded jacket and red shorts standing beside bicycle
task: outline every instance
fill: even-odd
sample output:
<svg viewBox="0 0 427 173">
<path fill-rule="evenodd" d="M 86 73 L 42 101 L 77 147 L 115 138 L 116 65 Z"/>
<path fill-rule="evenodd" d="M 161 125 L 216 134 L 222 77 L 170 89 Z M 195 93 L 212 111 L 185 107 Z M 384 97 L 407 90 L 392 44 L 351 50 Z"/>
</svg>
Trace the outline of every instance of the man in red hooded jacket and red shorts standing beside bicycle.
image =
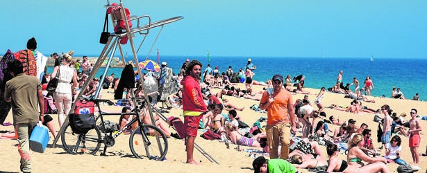
<svg viewBox="0 0 427 173">
<path fill-rule="evenodd" d="M 185 69 L 185 77 L 181 80 L 183 85 L 183 115 L 185 131 L 187 132 L 187 162 L 190 164 L 198 164 L 194 161 L 194 140 L 197 136 L 199 121 L 203 117 L 206 104 L 203 101 L 199 81 L 201 80 L 201 62 L 192 60 Z"/>
</svg>

